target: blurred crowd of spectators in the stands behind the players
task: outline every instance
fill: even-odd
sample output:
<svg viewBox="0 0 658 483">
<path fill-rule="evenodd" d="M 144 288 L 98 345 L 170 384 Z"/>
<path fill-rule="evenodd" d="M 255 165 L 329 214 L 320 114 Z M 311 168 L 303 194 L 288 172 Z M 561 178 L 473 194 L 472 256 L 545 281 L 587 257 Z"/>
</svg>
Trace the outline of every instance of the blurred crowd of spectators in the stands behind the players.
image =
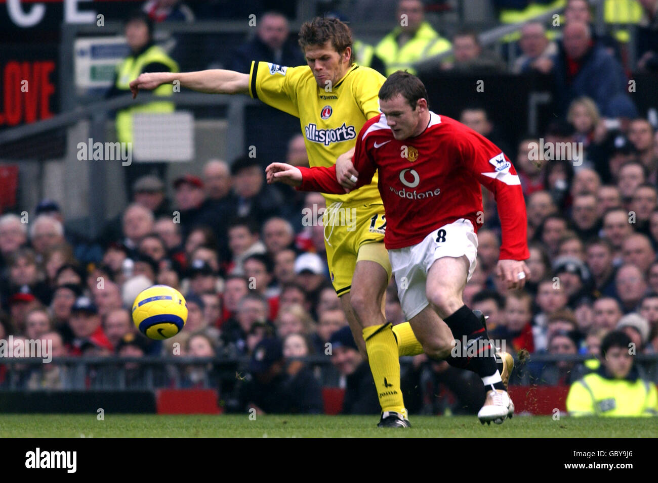
<svg viewBox="0 0 658 483">
<path fill-rule="evenodd" d="M 643 32 L 651 35 L 640 37 L 645 50 L 636 50 L 636 68 L 655 70 L 658 0 L 640 3 Z M 477 32 L 460 30 L 448 40 L 424 19 L 419 0 L 401 0 L 397 9 L 407 25 L 377 45 L 356 39 L 357 61 L 384 74 L 414 66 L 506 70 L 503 60 L 480 46 Z M 157 0 L 145 5 L 144 14 L 151 22 L 193 16 L 179 2 Z M 464 300 L 488 315 L 490 336 L 515 355 L 595 357 L 603 338 L 616 330 L 630 338 L 636 354 L 655 354 L 658 133 L 640 117 L 642 106 L 628 91 L 628 45 L 594 32 L 584 0 L 567 1 L 563 22 L 555 37 L 547 24 L 529 21 L 517 45 L 514 72 L 553 79 L 557 116 L 542 135 L 515 145 L 499 136 L 486 109 L 465 106 L 460 114 L 461 122 L 499 145 L 519 172 L 531 270 L 522 292 L 499 284 L 494 269 L 500 225 L 493 196 L 484 191 L 478 262 Z M 303 64 L 289 37 L 286 16 L 266 14 L 257 35 L 226 67 L 248 72 L 251 60 Z M 150 42 L 150 35 L 145 39 Z M 438 66 L 419 64 L 450 48 L 453 55 Z M 249 363 L 222 394 L 227 409 L 243 410 L 250 403 L 263 412 L 321 412 L 320 388 L 329 382 L 348 389 L 343 411 L 377 413 L 367 361 L 346 328 L 326 267 L 324 198 L 267 185 L 256 158 L 228 161 L 209 160 L 201 173 L 180 176 L 170 187 L 163 175 L 132 180 L 130 204 L 92 242 L 81 242 L 66 228 L 66 214 L 53 200 L 27 214 L 1 216 L 0 339 L 49 340 L 54 357 L 243 357 Z M 290 139 L 286 161 L 308 166 L 302 135 Z M 163 342 L 139 334 L 130 315 L 136 295 L 156 283 L 177 288 L 188 304 L 184 331 Z M 386 318 L 397 324 L 405 319 L 393 284 Z M 330 363 L 318 369 L 299 359 L 306 356 L 327 356 Z M 596 366 L 595 359 L 539 363 L 531 357 L 511 383 L 571 384 Z M 49 364 L 23 368 L 14 383 L 93 388 L 116 377 L 102 367 L 78 377 L 66 370 Z M 139 364 L 124 370 L 127 386 L 145 384 Z M 0 386 L 9 384 L 10 372 L 0 365 Z M 470 376 L 425 356 L 406 360 L 407 407 L 476 411 L 481 384 Z M 645 376 L 655 380 L 658 374 Z M 151 377 L 163 386 L 183 387 L 218 387 L 220 379 L 206 363 L 183 367 L 175 382 L 164 370 Z"/>
</svg>

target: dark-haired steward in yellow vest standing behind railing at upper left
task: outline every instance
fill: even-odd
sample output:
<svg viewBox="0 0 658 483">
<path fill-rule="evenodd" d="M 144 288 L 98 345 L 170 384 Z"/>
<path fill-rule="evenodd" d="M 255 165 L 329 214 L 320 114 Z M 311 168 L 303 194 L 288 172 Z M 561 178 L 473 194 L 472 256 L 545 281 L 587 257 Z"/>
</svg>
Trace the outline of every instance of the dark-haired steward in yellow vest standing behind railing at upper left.
<svg viewBox="0 0 658 483">
<path fill-rule="evenodd" d="M 178 72 L 176 61 L 153 43 L 153 23 L 146 14 L 140 12 L 128 19 L 126 39 L 131 53 L 116 66 L 114 83 L 106 98 L 130 93 L 130 81 L 138 78 L 143 72 Z M 170 96 L 173 88 L 172 85 L 161 85 L 153 93 Z M 116 137 L 120 143 L 132 143 L 132 116 L 137 112 L 174 112 L 174 103 L 155 102 L 118 111 Z"/>
</svg>

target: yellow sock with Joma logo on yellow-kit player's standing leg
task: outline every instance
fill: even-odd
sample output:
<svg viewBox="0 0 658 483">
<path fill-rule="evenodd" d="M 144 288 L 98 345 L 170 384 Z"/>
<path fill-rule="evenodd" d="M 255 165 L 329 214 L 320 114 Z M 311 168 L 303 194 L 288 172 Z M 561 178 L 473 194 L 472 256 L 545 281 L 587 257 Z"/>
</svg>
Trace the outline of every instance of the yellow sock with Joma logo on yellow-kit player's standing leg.
<svg viewBox="0 0 658 483">
<path fill-rule="evenodd" d="M 382 412 L 402 413 L 405 403 L 400 389 L 400 361 L 391 324 L 366 327 L 363 339 Z"/>
</svg>

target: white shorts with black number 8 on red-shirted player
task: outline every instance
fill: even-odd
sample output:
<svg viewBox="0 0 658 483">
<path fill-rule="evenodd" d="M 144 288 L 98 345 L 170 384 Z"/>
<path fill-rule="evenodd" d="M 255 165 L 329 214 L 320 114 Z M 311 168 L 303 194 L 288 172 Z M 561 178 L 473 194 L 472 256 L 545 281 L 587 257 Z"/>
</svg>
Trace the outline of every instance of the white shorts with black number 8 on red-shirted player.
<svg viewBox="0 0 658 483">
<path fill-rule="evenodd" d="M 473 224 L 465 218 L 432 231 L 420 243 L 388 250 L 397 285 L 397 296 L 407 320 L 418 315 L 429 304 L 426 294 L 427 272 L 434 260 L 466 255 L 470 264 L 468 282 L 475 269 L 477 254 L 478 237 Z"/>
</svg>

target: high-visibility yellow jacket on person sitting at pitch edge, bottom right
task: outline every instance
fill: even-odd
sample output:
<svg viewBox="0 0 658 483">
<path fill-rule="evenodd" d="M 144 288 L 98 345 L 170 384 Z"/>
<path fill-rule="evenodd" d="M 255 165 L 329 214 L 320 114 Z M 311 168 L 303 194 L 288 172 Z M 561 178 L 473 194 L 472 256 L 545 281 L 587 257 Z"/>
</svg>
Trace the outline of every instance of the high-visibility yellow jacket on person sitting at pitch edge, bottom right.
<svg viewBox="0 0 658 483">
<path fill-rule="evenodd" d="M 572 416 L 655 416 L 658 391 L 635 368 L 626 379 L 613 379 L 601 366 L 571 384 L 567 411 Z"/>
</svg>

